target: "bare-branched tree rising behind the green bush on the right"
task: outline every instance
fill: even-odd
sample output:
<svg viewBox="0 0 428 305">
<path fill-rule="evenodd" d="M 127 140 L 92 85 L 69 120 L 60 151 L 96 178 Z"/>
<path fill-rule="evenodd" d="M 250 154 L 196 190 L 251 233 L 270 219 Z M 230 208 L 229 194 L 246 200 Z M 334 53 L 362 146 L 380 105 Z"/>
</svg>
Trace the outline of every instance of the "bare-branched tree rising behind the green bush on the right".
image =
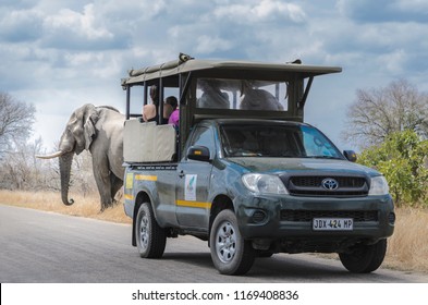
<svg viewBox="0 0 428 305">
<path fill-rule="evenodd" d="M 405 80 L 380 89 L 357 90 L 351 105 L 343 137 L 360 147 L 379 145 L 405 130 L 428 138 L 428 95 Z"/>
</svg>

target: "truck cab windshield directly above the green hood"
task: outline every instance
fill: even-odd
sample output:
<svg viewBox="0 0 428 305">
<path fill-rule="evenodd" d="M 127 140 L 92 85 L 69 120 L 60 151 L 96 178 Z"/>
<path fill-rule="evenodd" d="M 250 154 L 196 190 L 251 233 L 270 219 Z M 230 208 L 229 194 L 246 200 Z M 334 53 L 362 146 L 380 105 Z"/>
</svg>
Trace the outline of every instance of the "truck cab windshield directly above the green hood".
<svg viewBox="0 0 428 305">
<path fill-rule="evenodd" d="M 225 157 L 343 159 L 322 133 L 306 125 L 227 124 L 220 136 Z"/>
</svg>

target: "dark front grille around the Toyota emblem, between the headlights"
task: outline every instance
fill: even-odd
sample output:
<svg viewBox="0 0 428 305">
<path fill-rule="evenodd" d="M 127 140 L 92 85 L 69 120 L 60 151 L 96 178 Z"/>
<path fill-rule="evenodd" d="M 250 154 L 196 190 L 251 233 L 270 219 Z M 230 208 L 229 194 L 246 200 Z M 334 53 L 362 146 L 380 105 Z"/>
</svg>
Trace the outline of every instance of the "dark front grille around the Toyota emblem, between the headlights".
<svg viewBox="0 0 428 305">
<path fill-rule="evenodd" d="M 362 175 L 282 175 L 281 180 L 294 196 L 360 197 L 367 196 L 369 188 L 366 176 Z M 326 188 L 326 180 L 334 180 L 337 187 Z"/>
</svg>

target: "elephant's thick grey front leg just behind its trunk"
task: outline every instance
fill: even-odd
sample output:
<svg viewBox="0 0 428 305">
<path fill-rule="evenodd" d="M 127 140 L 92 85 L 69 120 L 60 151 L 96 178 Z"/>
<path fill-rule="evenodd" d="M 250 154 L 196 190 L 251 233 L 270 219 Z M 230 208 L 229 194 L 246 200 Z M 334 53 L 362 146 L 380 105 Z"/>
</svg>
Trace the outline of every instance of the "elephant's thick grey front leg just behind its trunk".
<svg viewBox="0 0 428 305">
<path fill-rule="evenodd" d="M 112 206 L 111 200 L 111 181 L 110 181 L 110 170 L 109 162 L 106 160 L 97 161 L 93 160 L 93 169 L 95 181 L 97 182 L 99 196 L 101 199 L 101 210 Z"/>
</svg>

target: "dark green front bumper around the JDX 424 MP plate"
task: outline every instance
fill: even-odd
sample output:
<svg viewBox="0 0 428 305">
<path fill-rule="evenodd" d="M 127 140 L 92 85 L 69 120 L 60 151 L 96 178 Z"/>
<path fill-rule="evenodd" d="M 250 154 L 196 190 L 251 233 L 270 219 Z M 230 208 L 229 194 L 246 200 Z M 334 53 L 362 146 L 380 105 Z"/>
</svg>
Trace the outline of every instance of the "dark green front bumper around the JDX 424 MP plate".
<svg viewBox="0 0 428 305">
<path fill-rule="evenodd" d="M 242 196 L 234 200 L 241 234 L 265 248 L 281 252 L 340 252 L 357 243 L 372 244 L 394 231 L 391 196 L 354 198 Z M 313 219 L 353 218 L 352 231 L 314 231 Z"/>
</svg>

